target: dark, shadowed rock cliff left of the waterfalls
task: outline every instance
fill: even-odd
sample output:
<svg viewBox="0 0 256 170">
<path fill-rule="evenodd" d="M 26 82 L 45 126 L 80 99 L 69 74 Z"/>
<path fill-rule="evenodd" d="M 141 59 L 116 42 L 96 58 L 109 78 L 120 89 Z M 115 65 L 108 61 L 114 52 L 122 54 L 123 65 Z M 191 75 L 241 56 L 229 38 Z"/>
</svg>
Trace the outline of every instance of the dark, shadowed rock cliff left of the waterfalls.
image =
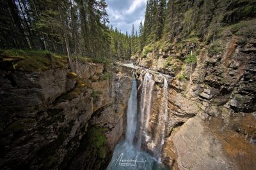
<svg viewBox="0 0 256 170">
<path fill-rule="evenodd" d="M 124 134 L 131 73 L 103 64 L 81 67 L 81 78 L 65 68 L 0 71 L 1 169 L 108 165 Z"/>
</svg>

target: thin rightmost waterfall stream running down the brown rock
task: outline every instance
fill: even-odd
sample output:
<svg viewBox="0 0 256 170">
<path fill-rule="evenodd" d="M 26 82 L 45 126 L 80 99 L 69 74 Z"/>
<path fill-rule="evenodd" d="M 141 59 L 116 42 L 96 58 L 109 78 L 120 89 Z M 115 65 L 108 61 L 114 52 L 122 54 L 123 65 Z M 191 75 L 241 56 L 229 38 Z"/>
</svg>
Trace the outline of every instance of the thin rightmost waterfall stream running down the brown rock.
<svg viewBox="0 0 256 170">
<path fill-rule="evenodd" d="M 161 132 L 159 134 L 158 142 L 156 143 L 156 148 L 154 149 L 154 157 L 161 162 L 162 150 L 164 145 L 164 138 L 165 138 L 165 126 L 168 117 L 168 82 L 166 78 L 164 78 L 164 87 L 163 87 L 163 98 L 161 103 L 161 111 L 160 111 L 160 119 L 158 125 L 160 126 Z"/>
</svg>

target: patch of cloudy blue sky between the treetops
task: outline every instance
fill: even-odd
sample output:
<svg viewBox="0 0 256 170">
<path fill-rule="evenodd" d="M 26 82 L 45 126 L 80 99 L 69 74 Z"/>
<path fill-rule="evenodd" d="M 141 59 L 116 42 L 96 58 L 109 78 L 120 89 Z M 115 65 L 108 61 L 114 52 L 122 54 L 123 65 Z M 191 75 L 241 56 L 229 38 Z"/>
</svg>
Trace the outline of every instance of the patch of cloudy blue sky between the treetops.
<svg viewBox="0 0 256 170">
<path fill-rule="evenodd" d="M 106 0 L 106 3 L 109 26 L 131 34 L 134 24 L 134 34 L 138 31 L 140 21 L 144 21 L 147 0 Z"/>
</svg>

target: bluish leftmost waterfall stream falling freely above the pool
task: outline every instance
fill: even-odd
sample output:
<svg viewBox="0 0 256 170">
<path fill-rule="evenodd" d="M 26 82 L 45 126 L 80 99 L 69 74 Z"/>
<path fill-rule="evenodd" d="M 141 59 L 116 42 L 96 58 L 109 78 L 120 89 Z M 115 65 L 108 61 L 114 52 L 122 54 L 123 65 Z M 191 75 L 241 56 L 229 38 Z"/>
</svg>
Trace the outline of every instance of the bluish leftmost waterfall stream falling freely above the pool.
<svg viewBox="0 0 256 170">
<path fill-rule="evenodd" d="M 125 141 L 132 145 L 137 127 L 137 83 L 134 73 L 132 74 L 132 91 L 128 101 L 127 108 L 127 129 Z"/>
</svg>

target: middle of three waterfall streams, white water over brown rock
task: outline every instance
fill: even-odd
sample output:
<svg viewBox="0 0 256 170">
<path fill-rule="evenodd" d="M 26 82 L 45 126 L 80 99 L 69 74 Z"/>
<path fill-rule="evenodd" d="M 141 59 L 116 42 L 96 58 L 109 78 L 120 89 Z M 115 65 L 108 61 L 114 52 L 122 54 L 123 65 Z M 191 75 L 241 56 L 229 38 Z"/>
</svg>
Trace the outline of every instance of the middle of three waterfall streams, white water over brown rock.
<svg viewBox="0 0 256 170">
<path fill-rule="evenodd" d="M 140 127 L 137 141 L 138 149 L 141 149 L 143 137 L 145 138 L 145 142 L 150 140 L 150 136 L 148 136 L 148 122 L 152 108 L 152 94 L 154 90 L 154 83 L 155 81 L 153 80 L 152 74 L 146 73 L 143 80 L 140 99 Z"/>
</svg>

